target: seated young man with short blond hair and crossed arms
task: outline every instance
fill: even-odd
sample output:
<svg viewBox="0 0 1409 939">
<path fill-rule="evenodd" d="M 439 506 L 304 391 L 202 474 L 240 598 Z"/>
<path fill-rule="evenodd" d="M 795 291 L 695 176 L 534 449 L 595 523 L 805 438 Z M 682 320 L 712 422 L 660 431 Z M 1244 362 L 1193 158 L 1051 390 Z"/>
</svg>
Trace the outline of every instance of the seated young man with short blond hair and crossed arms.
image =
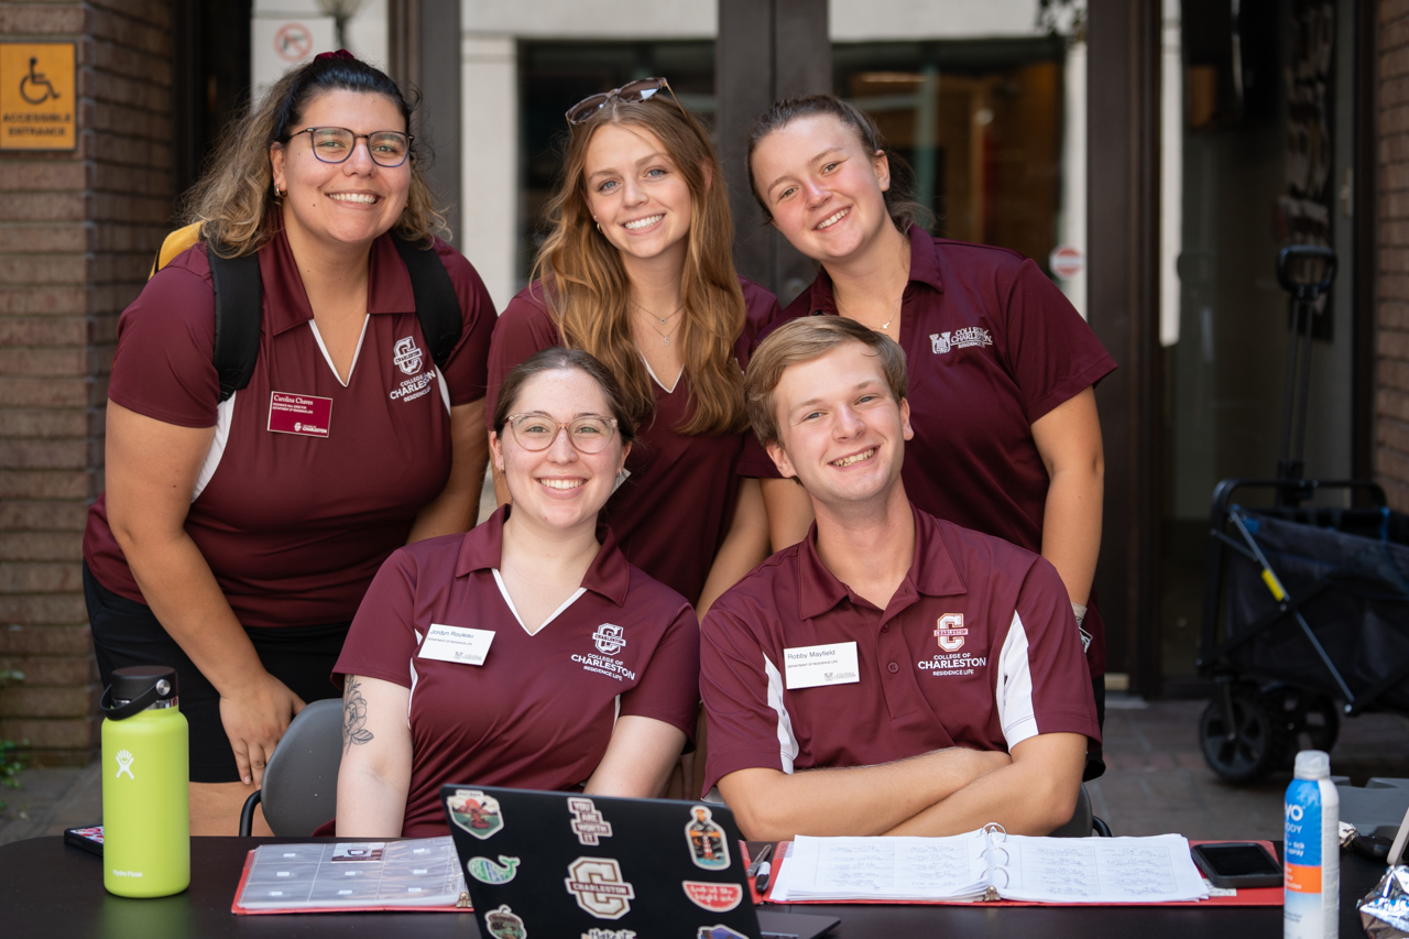
<svg viewBox="0 0 1409 939">
<path fill-rule="evenodd" d="M 1100 742 L 1071 601 L 1037 554 L 906 499 L 900 347 L 795 320 L 745 395 L 817 522 L 704 618 L 706 791 L 752 839 L 1064 825 Z"/>
</svg>

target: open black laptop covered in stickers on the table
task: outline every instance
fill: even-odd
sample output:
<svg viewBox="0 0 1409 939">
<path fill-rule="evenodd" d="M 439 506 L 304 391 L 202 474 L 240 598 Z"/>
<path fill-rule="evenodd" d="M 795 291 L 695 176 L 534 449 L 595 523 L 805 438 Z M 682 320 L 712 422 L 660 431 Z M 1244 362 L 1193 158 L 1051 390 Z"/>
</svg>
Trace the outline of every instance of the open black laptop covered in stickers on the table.
<svg viewBox="0 0 1409 939">
<path fill-rule="evenodd" d="M 813 939 L 834 916 L 755 912 L 724 805 L 441 787 L 485 939 Z"/>
</svg>

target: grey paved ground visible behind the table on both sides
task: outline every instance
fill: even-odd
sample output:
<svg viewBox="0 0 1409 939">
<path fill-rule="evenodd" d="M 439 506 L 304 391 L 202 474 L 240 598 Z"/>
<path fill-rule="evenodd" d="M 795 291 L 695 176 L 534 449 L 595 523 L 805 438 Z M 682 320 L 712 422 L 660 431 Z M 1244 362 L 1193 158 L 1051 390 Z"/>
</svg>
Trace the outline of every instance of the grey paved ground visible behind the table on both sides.
<svg viewBox="0 0 1409 939">
<path fill-rule="evenodd" d="M 1106 764 L 1089 782 L 1092 809 L 1116 835 L 1178 832 L 1186 837 L 1282 836 L 1282 792 L 1291 773 L 1258 785 L 1224 785 L 1203 763 L 1198 725 L 1205 702 L 1112 695 L 1106 711 Z M 1409 719 L 1365 715 L 1341 723 L 1332 771 L 1363 785 L 1371 775 L 1409 777 Z M 25 770 L 21 790 L 0 788 L 0 845 L 62 835 L 103 818 L 97 764 Z"/>
</svg>

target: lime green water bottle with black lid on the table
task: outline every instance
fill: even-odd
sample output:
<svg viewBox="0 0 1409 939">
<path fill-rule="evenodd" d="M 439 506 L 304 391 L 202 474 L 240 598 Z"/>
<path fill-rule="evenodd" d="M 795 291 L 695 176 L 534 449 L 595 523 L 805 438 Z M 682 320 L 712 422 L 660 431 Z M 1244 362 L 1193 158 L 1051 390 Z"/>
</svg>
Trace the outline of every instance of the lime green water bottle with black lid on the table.
<svg viewBox="0 0 1409 939">
<path fill-rule="evenodd" d="M 190 885 L 189 739 L 176 670 L 113 671 L 103 692 L 103 885 L 169 897 Z"/>
</svg>

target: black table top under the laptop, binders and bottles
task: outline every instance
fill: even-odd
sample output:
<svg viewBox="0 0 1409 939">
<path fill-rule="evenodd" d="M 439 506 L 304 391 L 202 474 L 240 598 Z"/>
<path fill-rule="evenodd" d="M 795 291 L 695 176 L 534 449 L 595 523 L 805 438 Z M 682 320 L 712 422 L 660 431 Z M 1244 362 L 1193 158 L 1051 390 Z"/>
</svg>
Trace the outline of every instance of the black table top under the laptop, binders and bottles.
<svg viewBox="0 0 1409 939">
<path fill-rule="evenodd" d="M 190 890 L 159 900 L 127 900 L 103 890 L 101 860 L 62 837 L 0 846 L 0 933 L 7 939 L 186 939 L 200 936 L 478 936 L 472 914 L 304 914 L 237 916 L 230 912 L 249 849 L 307 837 L 193 837 Z M 1341 854 L 1340 935 L 1363 936 L 1355 900 L 1384 873 Z M 769 911 L 834 915 L 837 939 L 895 936 L 1041 935 L 1047 939 L 1277 939 L 1281 907 L 906 907 L 766 905 Z"/>
</svg>

